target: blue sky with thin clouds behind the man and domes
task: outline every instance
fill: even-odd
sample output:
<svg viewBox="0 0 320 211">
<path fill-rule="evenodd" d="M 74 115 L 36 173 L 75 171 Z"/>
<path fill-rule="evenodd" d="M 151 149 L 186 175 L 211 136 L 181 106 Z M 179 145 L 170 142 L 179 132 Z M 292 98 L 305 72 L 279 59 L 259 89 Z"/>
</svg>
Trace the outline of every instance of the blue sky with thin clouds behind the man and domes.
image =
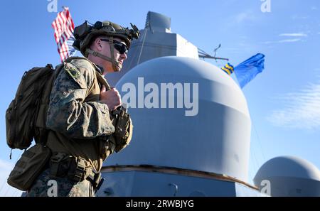
<svg viewBox="0 0 320 211">
<path fill-rule="evenodd" d="M 60 58 L 46 0 L 1 1 L 0 195 L 20 153 L 9 160 L 4 115 L 23 72 Z M 250 178 L 275 156 L 299 156 L 320 168 L 320 1 L 271 0 L 262 13 L 260 0 L 214 1 L 66 1 L 75 25 L 110 20 L 144 28 L 146 13 L 171 17 L 171 31 L 208 53 L 221 43 L 218 56 L 237 65 L 256 53 L 266 55 L 265 71 L 244 89 L 252 117 Z M 207 60 L 221 67 L 223 61 Z M 250 183 L 252 183 L 250 181 Z"/>
</svg>

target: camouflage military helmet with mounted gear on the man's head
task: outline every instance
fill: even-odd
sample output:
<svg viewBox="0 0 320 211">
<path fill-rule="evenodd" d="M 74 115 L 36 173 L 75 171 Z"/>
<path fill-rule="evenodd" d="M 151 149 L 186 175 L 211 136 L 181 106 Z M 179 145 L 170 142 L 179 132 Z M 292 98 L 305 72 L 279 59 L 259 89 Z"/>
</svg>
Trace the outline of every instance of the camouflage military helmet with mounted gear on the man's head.
<svg viewBox="0 0 320 211">
<path fill-rule="evenodd" d="M 131 41 L 135 38 L 139 38 L 140 32 L 137 26 L 130 23 L 132 29 L 124 28 L 119 26 L 117 23 L 112 23 L 111 21 L 97 21 L 92 26 L 85 21 L 80 26 L 75 27 L 74 36 L 75 41 L 73 47 L 80 50 L 82 55 L 85 55 L 85 50 L 88 45 L 90 45 L 92 38 L 97 36 L 112 36 L 114 38 L 121 38 L 124 40 L 128 48 L 130 48 Z M 87 55 L 85 55 L 87 56 Z"/>
</svg>

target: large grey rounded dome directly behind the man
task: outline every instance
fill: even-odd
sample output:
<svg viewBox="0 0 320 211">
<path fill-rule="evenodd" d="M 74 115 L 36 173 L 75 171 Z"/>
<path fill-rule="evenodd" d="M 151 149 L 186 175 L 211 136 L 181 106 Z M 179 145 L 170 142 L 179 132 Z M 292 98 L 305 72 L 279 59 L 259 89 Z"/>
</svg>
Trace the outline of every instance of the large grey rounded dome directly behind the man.
<svg viewBox="0 0 320 211">
<path fill-rule="evenodd" d="M 162 57 L 134 67 L 117 83 L 124 102 L 125 87 L 137 87 L 135 108 L 129 108 L 134 122 L 132 145 L 111 156 L 107 165 L 154 165 L 223 173 L 247 181 L 250 148 L 250 115 L 242 91 L 218 67 L 192 58 Z M 186 97 L 186 87 L 175 90 L 174 108 L 169 108 L 169 90 L 159 93 L 159 108 L 146 108 L 149 92 L 144 86 L 154 83 L 198 84 L 198 114 L 186 116 L 191 109 L 177 108 Z M 127 84 L 127 85 L 126 85 Z M 184 90 L 183 90 L 184 88 Z M 190 90 L 196 92 L 195 90 Z M 194 93 L 193 92 L 193 93 Z M 228 94 L 226 94 L 228 93 Z M 142 97 L 144 94 L 144 97 Z M 185 96 L 183 96 L 183 94 Z M 138 96 L 139 95 L 139 96 Z M 166 99 L 166 108 L 160 108 Z M 186 99 L 184 99 L 186 100 Z M 142 108 L 139 108 L 142 101 Z M 195 110 L 196 108 L 194 108 Z"/>
</svg>

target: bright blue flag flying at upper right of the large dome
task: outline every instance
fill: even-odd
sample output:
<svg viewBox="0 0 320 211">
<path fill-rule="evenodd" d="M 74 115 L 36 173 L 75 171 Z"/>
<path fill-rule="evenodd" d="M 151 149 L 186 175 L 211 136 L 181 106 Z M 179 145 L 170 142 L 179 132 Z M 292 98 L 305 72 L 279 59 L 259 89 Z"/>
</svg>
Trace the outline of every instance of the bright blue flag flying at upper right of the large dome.
<svg viewBox="0 0 320 211">
<path fill-rule="evenodd" d="M 265 55 L 257 53 L 257 55 L 248 58 L 234 68 L 240 87 L 244 87 L 255 76 L 265 69 Z"/>
</svg>

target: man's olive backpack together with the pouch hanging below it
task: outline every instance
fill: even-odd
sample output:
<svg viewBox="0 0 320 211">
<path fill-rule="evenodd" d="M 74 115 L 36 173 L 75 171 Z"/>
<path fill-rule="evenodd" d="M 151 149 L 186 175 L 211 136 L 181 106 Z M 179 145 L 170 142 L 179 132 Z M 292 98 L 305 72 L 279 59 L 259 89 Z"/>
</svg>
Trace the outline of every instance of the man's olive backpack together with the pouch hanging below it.
<svg viewBox="0 0 320 211">
<path fill-rule="evenodd" d="M 52 65 L 46 65 L 26 71 L 16 97 L 6 110 L 6 143 L 9 147 L 26 149 L 33 139 L 36 141 L 36 145 L 23 152 L 7 180 L 19 190 L 31 188 L 51 156 L 50 148 L 45 146 L 48 134 L 46 113 L 53 82 L 61 67 L 63 65 L 54 70 Z"/>
</svg>

